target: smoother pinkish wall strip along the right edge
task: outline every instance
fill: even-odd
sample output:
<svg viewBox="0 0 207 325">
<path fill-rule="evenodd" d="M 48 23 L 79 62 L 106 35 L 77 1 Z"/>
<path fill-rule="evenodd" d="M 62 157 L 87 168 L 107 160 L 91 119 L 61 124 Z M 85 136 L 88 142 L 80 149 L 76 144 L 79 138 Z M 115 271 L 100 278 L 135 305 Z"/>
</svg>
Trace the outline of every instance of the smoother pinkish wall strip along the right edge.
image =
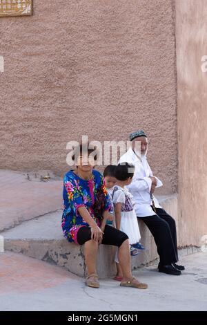
<svg viewBox="0 0 207 325">
<path fill-rule="evenodd" d="M 176 1 L 179 245 L 207 239 L 206 0 Z"/>
</svg>

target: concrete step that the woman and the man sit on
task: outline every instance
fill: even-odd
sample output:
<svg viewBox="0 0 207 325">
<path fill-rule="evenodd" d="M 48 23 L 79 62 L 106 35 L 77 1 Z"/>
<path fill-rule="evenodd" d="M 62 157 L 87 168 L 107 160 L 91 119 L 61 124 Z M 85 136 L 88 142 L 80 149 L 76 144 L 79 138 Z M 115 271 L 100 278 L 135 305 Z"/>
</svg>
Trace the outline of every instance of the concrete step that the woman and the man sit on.
<svg viewBox="0 0 207 325">
<path fill-rule="evenodd" d="M 177 196 L 160 198 L 161 204 L 168 210 L 175 210 Z M 173 212 L 173 211 L 170 211 Z M 174 211 L 175 212 L 175 211 Z M 15 228 L 1 232 L 5 250 L 26 254 L 42 261 L 62 266 L 79 275 L 86 275 L 83 246 L 68 243 L 61 230 L 61 210 L 52 212 L 30 221 L 25 221 Z M 157 259 L 157 248 L 146 225 L 139 221 L 141 243 L 146 250 L 131 259 L 132 270 Z M 100 245 L 97 257 L 97 272 L 101 279 L 115 275 L 115 250 L 110 245 Z"/>
</svg>

